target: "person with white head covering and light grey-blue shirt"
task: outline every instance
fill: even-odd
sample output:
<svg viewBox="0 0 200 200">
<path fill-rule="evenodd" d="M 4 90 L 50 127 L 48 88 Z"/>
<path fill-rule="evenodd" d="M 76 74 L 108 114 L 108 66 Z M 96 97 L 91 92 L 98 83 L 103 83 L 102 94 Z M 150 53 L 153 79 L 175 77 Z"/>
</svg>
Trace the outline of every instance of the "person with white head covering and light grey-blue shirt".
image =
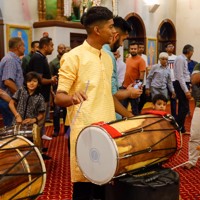
<svg viewBox="0 0 200 200">
<path fill-rule="evenodd" d="M 161 52 L 159 54 L 160 64 L 152 66 L 146 81 L 146 95 L 153 98 L 156 94 L 163 94 L 168 98 L 168 89 L 172 93 L 172 98 L 176 97 L 171 80 L 171 72 L 168 66 L 168 54 Z"/>
</svg>

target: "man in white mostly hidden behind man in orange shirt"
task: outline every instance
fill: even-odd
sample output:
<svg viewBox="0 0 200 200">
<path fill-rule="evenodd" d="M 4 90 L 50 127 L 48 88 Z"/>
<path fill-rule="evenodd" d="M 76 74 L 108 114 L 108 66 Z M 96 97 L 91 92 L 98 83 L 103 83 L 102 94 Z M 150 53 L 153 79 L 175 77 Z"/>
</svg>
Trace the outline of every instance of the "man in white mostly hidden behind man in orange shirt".
<svg viewBox="0 0 200 200">
<path fill-rule="evenodd" d="M 144 61 L 145 61 L 145 74 L 144 74 L 144 80 L 143 80 L 143 91 L 142 94 L 140 96 L 140 101 L 138 104 L 138 111 L 139 113 L 141 113 L 142 108 L 144 107 L 145 103 L 147 102 L 147 97 L 146 97 L 146 93 L 145 93 L 145 89 L 146 89 L 146 71 L 147 71 L 147 55 L 144 54 L 144 43 L 143 42 L 138 42 L 138 55 L 141 56 Z"/>
</svg>

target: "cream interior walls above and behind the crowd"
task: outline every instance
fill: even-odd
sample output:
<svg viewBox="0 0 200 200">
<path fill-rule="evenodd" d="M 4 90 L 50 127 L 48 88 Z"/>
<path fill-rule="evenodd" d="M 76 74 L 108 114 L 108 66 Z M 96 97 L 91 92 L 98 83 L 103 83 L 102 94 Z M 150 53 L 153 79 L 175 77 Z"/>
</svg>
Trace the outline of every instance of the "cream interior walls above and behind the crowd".
<svg viewBox="0 0 200 200">
<path fill-rule="evenodd" d="M 102 4 L 110 8 L 111 5 L 109 2 L 111 0 L 102 0 Z M 146 27 L 147 37 L 156 38 L 159 24 L 164 19 L 170 19 L 174 23 L 177 31 L 177 54 L 181 53 L 185 44 L 190 43 L 195 48 L 193 58 L 197 61 L 200 60 L 198 57 L 200 54 L 200 24 L 197 23 L 200 18 L 199 0 L 159 0 L 160 6 L 154 13 L 149 12 L 149 7 L 144 4 L 143 0 L 118 0 L 118 3 L 118 15 L 125 17 L 133 12 L 140 15 Z M 28 8 L 29 20 L 26 19 L 27 13 L 24 12 L 24 6 Z M 38 21 L 37 0 L 0 0 L 0 8 L 5 25 L 17 24 L 32 27 L 33 22 Z M 6 28 L 4 30 L 6 31 Z M 60 42 L 69 44 L 70 31 L 76 31 L 78 33 L 84 32 L 81 29 L 68 31 L 62 27 L 34 29 L 32 31 L 32 39 L 38 39 L 44 31 L 48 31 L 50 36 L 53 37 L 55 46 Z M 6 32 L 4 35 L 6 41 Z M 6 46 L 5 43 L 5 48 Z"/>
</svg>

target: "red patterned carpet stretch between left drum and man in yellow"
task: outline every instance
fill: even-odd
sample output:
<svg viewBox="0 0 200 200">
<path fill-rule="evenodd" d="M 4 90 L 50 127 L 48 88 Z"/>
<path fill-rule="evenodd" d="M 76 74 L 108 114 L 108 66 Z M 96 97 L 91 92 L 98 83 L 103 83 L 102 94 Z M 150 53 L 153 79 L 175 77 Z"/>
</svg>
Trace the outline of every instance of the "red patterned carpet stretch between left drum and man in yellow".
<svg viewBox="0 0 200 200">
<path fill-rule="evenodd" d="M 46 126 L 47 135 L 53 134 L 53 126 Z M 63 132 L 63 130 L 61 130 Z M 45 141 L 51 160 L 45 161 L 47 182 L 38 200 L 71 200 L 72 184 L 67 138 L 62 134 L 51 141 Z"/>
</svg>

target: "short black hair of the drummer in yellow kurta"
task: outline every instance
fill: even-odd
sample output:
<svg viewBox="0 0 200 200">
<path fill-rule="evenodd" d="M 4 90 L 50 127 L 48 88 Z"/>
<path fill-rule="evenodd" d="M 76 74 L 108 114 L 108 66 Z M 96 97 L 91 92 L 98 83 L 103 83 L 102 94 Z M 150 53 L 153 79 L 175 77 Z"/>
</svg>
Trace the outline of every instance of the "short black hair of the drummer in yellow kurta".
<svg viewBox="0 0 200 200">
<path fill-rule="evenodd" d="M 81 17 L 81 24 L 86 30 L 96 22 L 108 21 L 113 19 L 113 13 L 106 7 L 93 6 L 87 10 Z"/>
</svg>

